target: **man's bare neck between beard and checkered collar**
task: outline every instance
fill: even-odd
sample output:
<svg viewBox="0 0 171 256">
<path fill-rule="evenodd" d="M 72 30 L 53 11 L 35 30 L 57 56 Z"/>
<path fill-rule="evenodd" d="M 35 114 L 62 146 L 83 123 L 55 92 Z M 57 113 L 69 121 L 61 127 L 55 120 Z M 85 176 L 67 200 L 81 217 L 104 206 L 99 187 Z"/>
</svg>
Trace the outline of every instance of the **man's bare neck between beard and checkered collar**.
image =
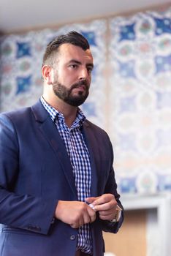
<svg viewBox="0 0 171 256">
<path fill-rule="evenodd" d="M 48 104 L 50 104 L 53 108 L 58 110 L 58 112 L 64 115 L 67 127 L 71 127 L 73 121 L 75 121 L 75 118 L 77 116 L 77 107 L 73 107 L 67 104 L 58 97 L 54 97 L 52 99 L 51 97 L 48 97 L 46 94 L 43 94 L 43 98 Z"/>
</svg>

